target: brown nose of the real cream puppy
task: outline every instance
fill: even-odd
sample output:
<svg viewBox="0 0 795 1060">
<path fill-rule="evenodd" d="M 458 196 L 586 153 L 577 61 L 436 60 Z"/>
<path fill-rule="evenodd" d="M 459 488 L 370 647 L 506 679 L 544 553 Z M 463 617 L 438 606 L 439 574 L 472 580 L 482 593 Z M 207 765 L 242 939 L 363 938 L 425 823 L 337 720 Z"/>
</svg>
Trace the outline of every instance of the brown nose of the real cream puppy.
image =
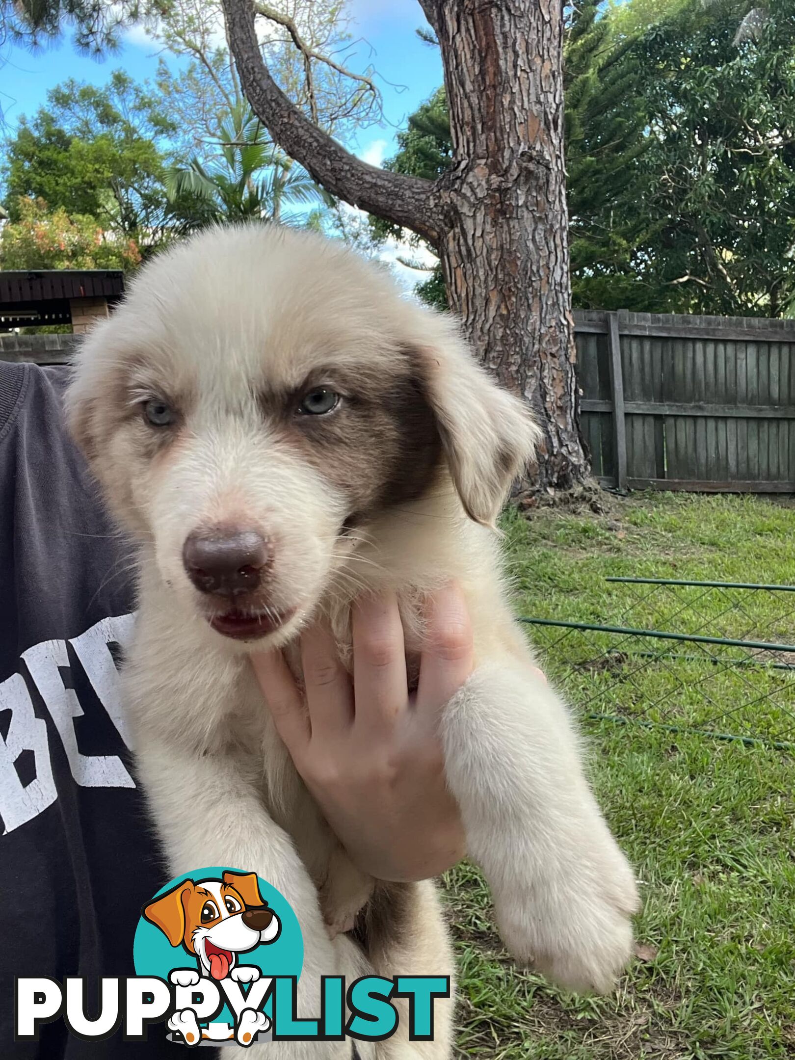
<svg viewBox="0 0 795 1060">
<path fill-rule="evenodd" d="M 236 597 L 259 588 L 273 558 L 255 530 L 194 530 L 182 548 L 188 577 L 201 593 Z"/>
</svg>

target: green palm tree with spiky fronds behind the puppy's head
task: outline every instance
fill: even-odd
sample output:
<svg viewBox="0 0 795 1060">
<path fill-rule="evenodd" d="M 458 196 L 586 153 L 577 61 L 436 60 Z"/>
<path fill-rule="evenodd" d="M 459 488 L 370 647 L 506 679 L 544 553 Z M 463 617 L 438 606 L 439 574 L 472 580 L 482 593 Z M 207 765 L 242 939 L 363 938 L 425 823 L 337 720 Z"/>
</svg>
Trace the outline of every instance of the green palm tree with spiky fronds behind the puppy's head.
<svg viewBox="0 0 795 1060">
<path fill-rule="evenodd" d="M 217 158 L 191 159 L 169 171 L 166 195 L 190 217 L 189 228 L 230 220 L 300 224 L 305 211 L 285 209 L 333 206 L 306 170 L 264 139 L 264 128 L 247 104 L 240 104 L 219 129 Z"/>
</svg>

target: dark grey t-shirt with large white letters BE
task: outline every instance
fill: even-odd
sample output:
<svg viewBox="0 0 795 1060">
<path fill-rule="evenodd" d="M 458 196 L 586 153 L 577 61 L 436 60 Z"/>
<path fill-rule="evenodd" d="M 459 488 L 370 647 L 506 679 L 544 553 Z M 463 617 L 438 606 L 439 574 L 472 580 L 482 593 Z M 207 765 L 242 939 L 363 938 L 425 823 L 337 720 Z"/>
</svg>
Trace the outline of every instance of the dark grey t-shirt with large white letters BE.
<svg viewBox="0 0 795 1060">
<path fill-rule="evenodd" d="M 127 551 L 66 434 L 65 377 L 0 361 L 0 1057 L 176 1060 L 160 1026 L 145 1043 L 60 1019 L 13 1038 L 16 976 L 134 974 L 141 906 L 167 880 L 116 689 Z"/>
</svg>

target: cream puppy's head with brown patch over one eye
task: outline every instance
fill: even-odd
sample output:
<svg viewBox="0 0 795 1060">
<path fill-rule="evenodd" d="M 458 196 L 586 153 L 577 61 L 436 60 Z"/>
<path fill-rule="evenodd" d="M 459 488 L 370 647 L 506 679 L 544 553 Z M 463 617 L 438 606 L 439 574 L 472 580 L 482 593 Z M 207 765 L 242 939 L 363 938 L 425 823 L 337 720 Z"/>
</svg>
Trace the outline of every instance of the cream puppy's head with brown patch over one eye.
<svg viewBox="0 0 795 1060">
<path fill-rule="evenodd" d="M 439 318 L 341 248 L 261 228 L 144 269 L 69 407 L 175 602 L 245 643 L 288 639 L 357 534 L 444 467 L 490 522 L 532 444 Z"/>
</svg>

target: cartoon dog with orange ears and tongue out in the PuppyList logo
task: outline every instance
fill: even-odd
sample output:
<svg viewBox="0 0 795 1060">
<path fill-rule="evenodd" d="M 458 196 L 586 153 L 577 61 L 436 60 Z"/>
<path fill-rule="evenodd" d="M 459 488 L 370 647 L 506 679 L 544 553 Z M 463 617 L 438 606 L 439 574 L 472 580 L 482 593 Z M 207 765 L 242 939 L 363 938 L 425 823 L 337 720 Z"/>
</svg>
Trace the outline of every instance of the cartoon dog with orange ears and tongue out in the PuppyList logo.
<svg viewBox="0 0 795 1060">
<path fill-rule="evenodd" d="M 260 969 L 241 965 L 238 954 L 275 942 L 282 926 L 260 894 L 255 872 L 227 871 L 220 880 L 183 880 L 145 905 L 142 916 L 159 928 L 173 947 L 181 946 L 195 957 L 197 971 L 176 969 L 171 973 L 172 980 L 182 987 L 195 986 L 201 976 L 255 983 Z M 237 1027 L 210 1024 L 200 1030 L 193 1010 L 186 1009 L 174 1013 L 169 1027 L 189 1045 L 198 1044 L 200 1039 L 232 1038 L 241 1045 L 250 1045 L 269 1023 L 264 1012 L 246 1009 Z"/>
</svg>

